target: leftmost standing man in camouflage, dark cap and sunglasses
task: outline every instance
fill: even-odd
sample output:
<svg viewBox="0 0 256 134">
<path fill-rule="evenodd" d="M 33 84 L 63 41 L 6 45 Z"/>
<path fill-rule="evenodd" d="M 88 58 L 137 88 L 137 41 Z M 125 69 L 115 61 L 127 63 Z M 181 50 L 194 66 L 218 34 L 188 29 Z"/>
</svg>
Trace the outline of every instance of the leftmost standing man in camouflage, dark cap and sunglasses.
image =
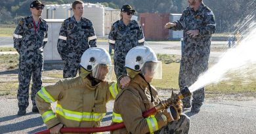
<svg viewBox="0 0 256 134">
<path fill-rule="evenodd" d="M 14 34 L 14 48 L 17 50 L 19 57 L 18 67 L 18 115 L 26 114 L 28 107 L 30 80 L 32 76 L 32 112 L 38 112 L 35 105 L 35 93 L 42 86 L 43 71 L 43 48 L 47 43 L 48 25 L 41 18 L 45 5 L 41 1 L 33 1 L 30 4 L 31 16 L 22 18 L 17 25 Z"/>
</svg>

